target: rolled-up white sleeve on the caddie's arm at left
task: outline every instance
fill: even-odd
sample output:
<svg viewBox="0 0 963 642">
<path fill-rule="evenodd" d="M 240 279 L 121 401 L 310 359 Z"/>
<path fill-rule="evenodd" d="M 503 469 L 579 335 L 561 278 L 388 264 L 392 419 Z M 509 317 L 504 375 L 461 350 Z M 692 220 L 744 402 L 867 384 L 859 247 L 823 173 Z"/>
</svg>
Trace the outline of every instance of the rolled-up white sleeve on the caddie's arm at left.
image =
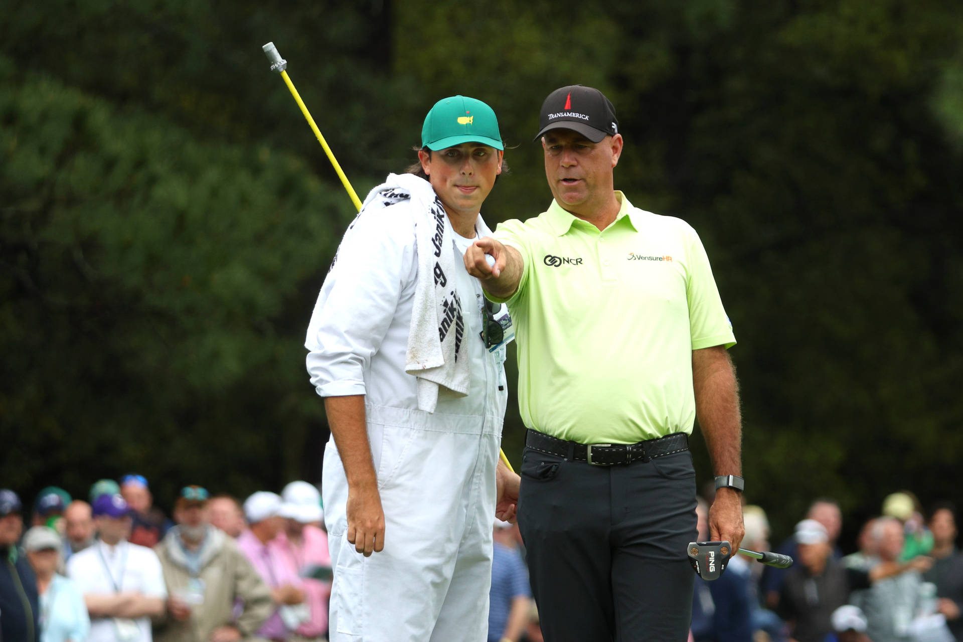
<svg viewBox="0 0 963 642">
<path fill-rule="evenodd" d="M 414 224 L 403 207 L 355 218 L 338 247 L 304 344 L 307 371 L 321 397 L 366 393 L 364 372 L 417 270 Z"/>
</svg>

